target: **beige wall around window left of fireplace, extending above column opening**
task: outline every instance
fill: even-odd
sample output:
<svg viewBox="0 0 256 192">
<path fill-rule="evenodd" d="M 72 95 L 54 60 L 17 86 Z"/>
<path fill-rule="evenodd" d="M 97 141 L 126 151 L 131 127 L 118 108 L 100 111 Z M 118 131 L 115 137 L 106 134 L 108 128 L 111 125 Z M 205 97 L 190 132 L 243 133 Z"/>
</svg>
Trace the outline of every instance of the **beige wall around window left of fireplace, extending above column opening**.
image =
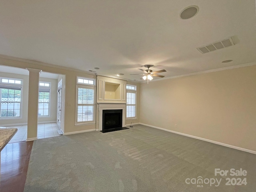
<svg viewBox="0 0 256 192">
<path fill-rule="evenodd" d="M 18 68 L 34 68 L 40 69 L 43 72 L 50 72 L 55 74 L 63 74 L 66 75 L 66 84 L 65 86 L 65 115 L 64 115 L 64 133 L 68 132 L 76 132 L 83 130 L 91 130 L 95 129 L 95 124 L 92 125 L 83 125 L 83 126 L 75 126 L 75 118 L 76 118 L 76 76 L 88 77 L 88 78 L 96 78 L 95 75 L 88 74 L 83 71 L 78 70 L 67 70 L 64 68 L 58 68 L 54 66 L 46 66 L 35 63 L 11 60 L 6 58 L 0 58 L 0 65 L 3 66 L 12 66 Z M 68 106 L 68 103 L 71 103 L 71 106 Z"/>
</svg>

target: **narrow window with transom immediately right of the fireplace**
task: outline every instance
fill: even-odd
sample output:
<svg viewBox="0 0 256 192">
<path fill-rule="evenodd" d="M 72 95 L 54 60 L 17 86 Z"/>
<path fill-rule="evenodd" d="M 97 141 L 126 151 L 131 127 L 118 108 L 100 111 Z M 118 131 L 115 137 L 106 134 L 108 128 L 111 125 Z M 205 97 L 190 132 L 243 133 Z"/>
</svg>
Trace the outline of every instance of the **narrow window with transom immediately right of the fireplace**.
<svg viewBox="0 0 256 192">
<path fill-rule="evenodd" d="M 126 118 L 136 118 L 136 86 L 126 85 Z"/>
</svg>

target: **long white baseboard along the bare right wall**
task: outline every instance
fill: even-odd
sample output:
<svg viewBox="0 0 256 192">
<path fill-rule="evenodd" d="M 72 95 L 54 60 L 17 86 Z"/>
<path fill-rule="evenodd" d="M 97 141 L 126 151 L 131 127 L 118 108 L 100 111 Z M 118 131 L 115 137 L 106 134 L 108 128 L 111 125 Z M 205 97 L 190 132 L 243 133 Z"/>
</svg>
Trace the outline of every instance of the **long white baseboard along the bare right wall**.
<svg viewBox="0 0 256 192">
<path fill-rule="evenodd" d="M 191 137 L 191 138 L 194 138 L 194 139 L 199 139 L 199 140 L 202 140 L 202 141 L 214 143 L 214 144 L 217 144 L 217 145 L 222 145 L 222 146 L 225 146 L 225 147 L 237 149 L 237 150 L 240 150 L 240 151 L 256 154 L 256 151 L 240 148 L 240 147 L 237 147 L 237 146 L 221 143 L 221 142 L 218 142 L 218 141 L 213 141 L 213 140 L 209 140 L 209 139 L 205 139 L 205 138 L 201 138 L 201 137 L 197 137 L 197 136 L 193 136 L 193 135 L 188 135 L 188 134 L 185 134 L 185 133 L 180 133 L 180 132 L 176 132 L 176 131 L 172 131 L 172 130 L 168 130 L 168 129 L 164 129 L 164 128 L 160 128 L 160 127 L 156 127 L 156 126 L 152 126 L 152 125 L 148 125 L 148 124 L 144 124 L 144 123 L 139 123 L 139 124 L 145 125 L 145 126 L 148 126 L 148 127 L 152 127 L 152 128 L 156 128 L 156 129 L 160 129 L 160 130 L 164 130 L 164 131 L 168 131 L 168 132 L 171 132 L 171 133 L 183 135 L 183 136 L 186 136 L 186 137 Z"/>
</svg>

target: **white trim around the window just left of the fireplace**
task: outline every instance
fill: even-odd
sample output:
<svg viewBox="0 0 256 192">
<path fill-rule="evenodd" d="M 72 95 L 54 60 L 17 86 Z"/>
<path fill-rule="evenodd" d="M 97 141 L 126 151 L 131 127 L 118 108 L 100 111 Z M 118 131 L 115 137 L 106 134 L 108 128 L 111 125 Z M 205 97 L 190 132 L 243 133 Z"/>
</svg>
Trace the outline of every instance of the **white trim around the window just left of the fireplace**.
<svg viewBox="0 0 256 192">
<path fill-rule="evenodd" d="M 79 77 L 81 78 L 81 77 Z M 77 78 L 78 79 L 78 78 Z M 88 79 L 88 78 L 84 78 L 84 79 Z M 95 79 L 94 80 L 95 83 Z M 83 122 L 78 122 L 77 121 L 77 112 L 78 112 L 78 88 L 90 88 L 94 90 L 94 104 L 93 106 L 93 120 L 92 121 L 83 121 Z M 75 126 L 82 126 L 82 125 L 92 125 L 95 124 L 96 122 L 96 88 L 95 86 L 91 85 L 91 84 L 77 84 L 76 85 L 76 122 L 75 122 Z"/>
</svg>

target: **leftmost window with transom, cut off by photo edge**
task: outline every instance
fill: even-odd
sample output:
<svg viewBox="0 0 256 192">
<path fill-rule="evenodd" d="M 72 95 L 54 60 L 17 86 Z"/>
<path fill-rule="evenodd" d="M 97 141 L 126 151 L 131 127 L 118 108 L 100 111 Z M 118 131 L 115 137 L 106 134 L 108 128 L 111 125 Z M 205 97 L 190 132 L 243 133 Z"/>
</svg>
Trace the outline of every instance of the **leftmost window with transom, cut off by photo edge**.
<svg viewBox="0 0 256 192">
<path fill-rule="evenodd" d="M 0 77 L 0 118 L 21 117 L 22 80 Z"/>
</svg>

